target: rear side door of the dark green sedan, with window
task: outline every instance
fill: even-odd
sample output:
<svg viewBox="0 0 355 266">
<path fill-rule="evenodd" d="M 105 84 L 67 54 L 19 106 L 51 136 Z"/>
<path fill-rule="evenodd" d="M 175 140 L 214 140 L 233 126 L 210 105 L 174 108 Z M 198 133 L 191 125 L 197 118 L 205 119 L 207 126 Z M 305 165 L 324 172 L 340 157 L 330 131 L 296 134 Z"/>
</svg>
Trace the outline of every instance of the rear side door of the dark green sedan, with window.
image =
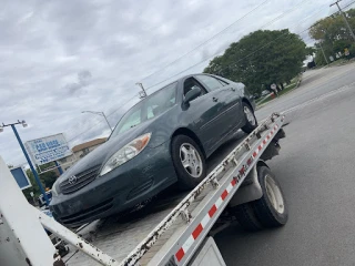
<svg viewBox="0 0 355 266">
<path fill-rule="evenodd" d="M 240 110 L 239 90 L 236 90 L 234 83 L 227 83 L 215 76 L 199 74 L 196 79 L 201 81 L 206 90 L 213 93 L 216 101 L 221 103 L 221 108 L 214 117 L 215 121 L 212 123 L 219 129 L 219 140 L 216 140 L 215 145 L 220 145 L 237 126 Z"/>
</svg>

